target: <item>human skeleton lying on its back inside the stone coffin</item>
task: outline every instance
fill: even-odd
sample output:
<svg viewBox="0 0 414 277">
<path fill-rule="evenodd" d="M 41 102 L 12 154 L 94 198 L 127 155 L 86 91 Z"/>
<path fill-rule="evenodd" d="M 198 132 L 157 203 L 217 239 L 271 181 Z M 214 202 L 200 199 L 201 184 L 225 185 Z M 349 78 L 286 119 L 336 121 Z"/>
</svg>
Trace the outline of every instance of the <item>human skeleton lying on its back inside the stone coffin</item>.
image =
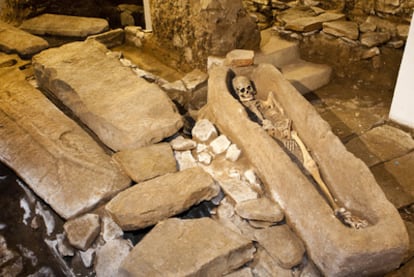
<svg viewBox="0 0 414 277">
<path fill-rule="evenodd" d="M 255 114 L 266 132 L 281 142 L 285 149 L 293 154 L 310 173 L 328 200 L 337 218 L 352 228 L 360 229 L 367 227 L 368 222 L 366 220 L 352 215 L 350 211 L 341 207 L 335 201 L 320 175 L 318 165 L 297 132 L 292 130 L 292 120 L 286 116 L 282 106 L 274 99 L 273 93 L 269 92 L 268 98 L 265 101 L 256 100 L 256 91 L 253 84 L 247 77 L 241 75 L 233 78 L 232 85 L 240 102 Z"/>
</svg>

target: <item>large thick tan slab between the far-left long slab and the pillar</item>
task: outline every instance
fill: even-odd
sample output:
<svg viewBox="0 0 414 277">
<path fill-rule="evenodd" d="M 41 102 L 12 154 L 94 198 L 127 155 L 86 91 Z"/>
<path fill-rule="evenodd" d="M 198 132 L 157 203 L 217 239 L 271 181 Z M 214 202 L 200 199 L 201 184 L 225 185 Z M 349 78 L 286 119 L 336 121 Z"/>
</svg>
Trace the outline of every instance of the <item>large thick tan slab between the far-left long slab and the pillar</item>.
<svg viewBox="0 0 414 277">
<path fill-rule="evenodd" d="M 172 101 L 107 51 L 93 40 L 43 51 L 33 59 L 39 86 L 113 150 L 135 149 L 173 135 L 183 123 Z"/>
</svg>

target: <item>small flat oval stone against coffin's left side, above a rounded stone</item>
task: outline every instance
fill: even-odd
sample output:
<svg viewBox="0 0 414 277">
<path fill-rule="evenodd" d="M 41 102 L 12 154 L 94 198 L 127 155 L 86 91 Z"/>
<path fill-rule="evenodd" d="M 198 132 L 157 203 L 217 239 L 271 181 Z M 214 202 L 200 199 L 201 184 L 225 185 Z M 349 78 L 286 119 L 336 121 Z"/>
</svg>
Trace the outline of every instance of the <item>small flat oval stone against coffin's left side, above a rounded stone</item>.
<svg viewBox="0 0 414 277">
<path fill-rule="evenodd" d="M 238 215 L 251 220 L 279 222 L 285 217 L 280 206 L 269 198 L 258 198 L 240 202 L 236 205 L 235 209 Z"/>
</svg>

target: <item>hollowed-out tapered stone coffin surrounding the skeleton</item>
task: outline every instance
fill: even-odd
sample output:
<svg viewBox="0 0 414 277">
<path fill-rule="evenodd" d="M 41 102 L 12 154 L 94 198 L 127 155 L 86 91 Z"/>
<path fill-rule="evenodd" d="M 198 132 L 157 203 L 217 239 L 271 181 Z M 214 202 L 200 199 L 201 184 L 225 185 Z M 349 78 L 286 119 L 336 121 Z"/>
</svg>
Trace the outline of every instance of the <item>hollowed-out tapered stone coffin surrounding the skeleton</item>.
<svg viewBox="0 0 414 277">
<path fill-rule="evenodd" d="M 366 165 L 349 153 L 329 125 L 273 66 L 261 64 L 252 80 L 258 97 L 269 92 L 293 120 L 330 185 L 335 198 L 370 223 L 364 229 L 343 225 L 314 185 L 281 147 L 228 92 L 225 67 L 210 72 L 204 116 L 215 122 L 256 167 L 266 190 L 284 209 L 289 225 L 326 276 L 380 275 L 397 268 L 408 247 L 404 224 Z"/>
</svg>

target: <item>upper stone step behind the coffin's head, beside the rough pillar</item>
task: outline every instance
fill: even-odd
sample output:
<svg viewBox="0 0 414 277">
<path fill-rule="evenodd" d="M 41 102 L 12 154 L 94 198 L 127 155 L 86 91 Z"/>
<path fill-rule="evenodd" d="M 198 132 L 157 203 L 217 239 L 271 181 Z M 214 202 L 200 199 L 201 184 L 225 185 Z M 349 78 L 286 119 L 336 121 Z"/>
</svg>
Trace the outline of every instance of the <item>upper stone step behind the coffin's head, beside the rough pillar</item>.
<svg viewBox="0 0 414 277">
<path fill-rule="evenodd" d="M 272 29 L 263 30 L 261 36 L 260 51 L 255 55 L 255 64 L 270 63 L 282 67 L 300 58 L 297 42 L 282 39 Z"/>
</svg>

